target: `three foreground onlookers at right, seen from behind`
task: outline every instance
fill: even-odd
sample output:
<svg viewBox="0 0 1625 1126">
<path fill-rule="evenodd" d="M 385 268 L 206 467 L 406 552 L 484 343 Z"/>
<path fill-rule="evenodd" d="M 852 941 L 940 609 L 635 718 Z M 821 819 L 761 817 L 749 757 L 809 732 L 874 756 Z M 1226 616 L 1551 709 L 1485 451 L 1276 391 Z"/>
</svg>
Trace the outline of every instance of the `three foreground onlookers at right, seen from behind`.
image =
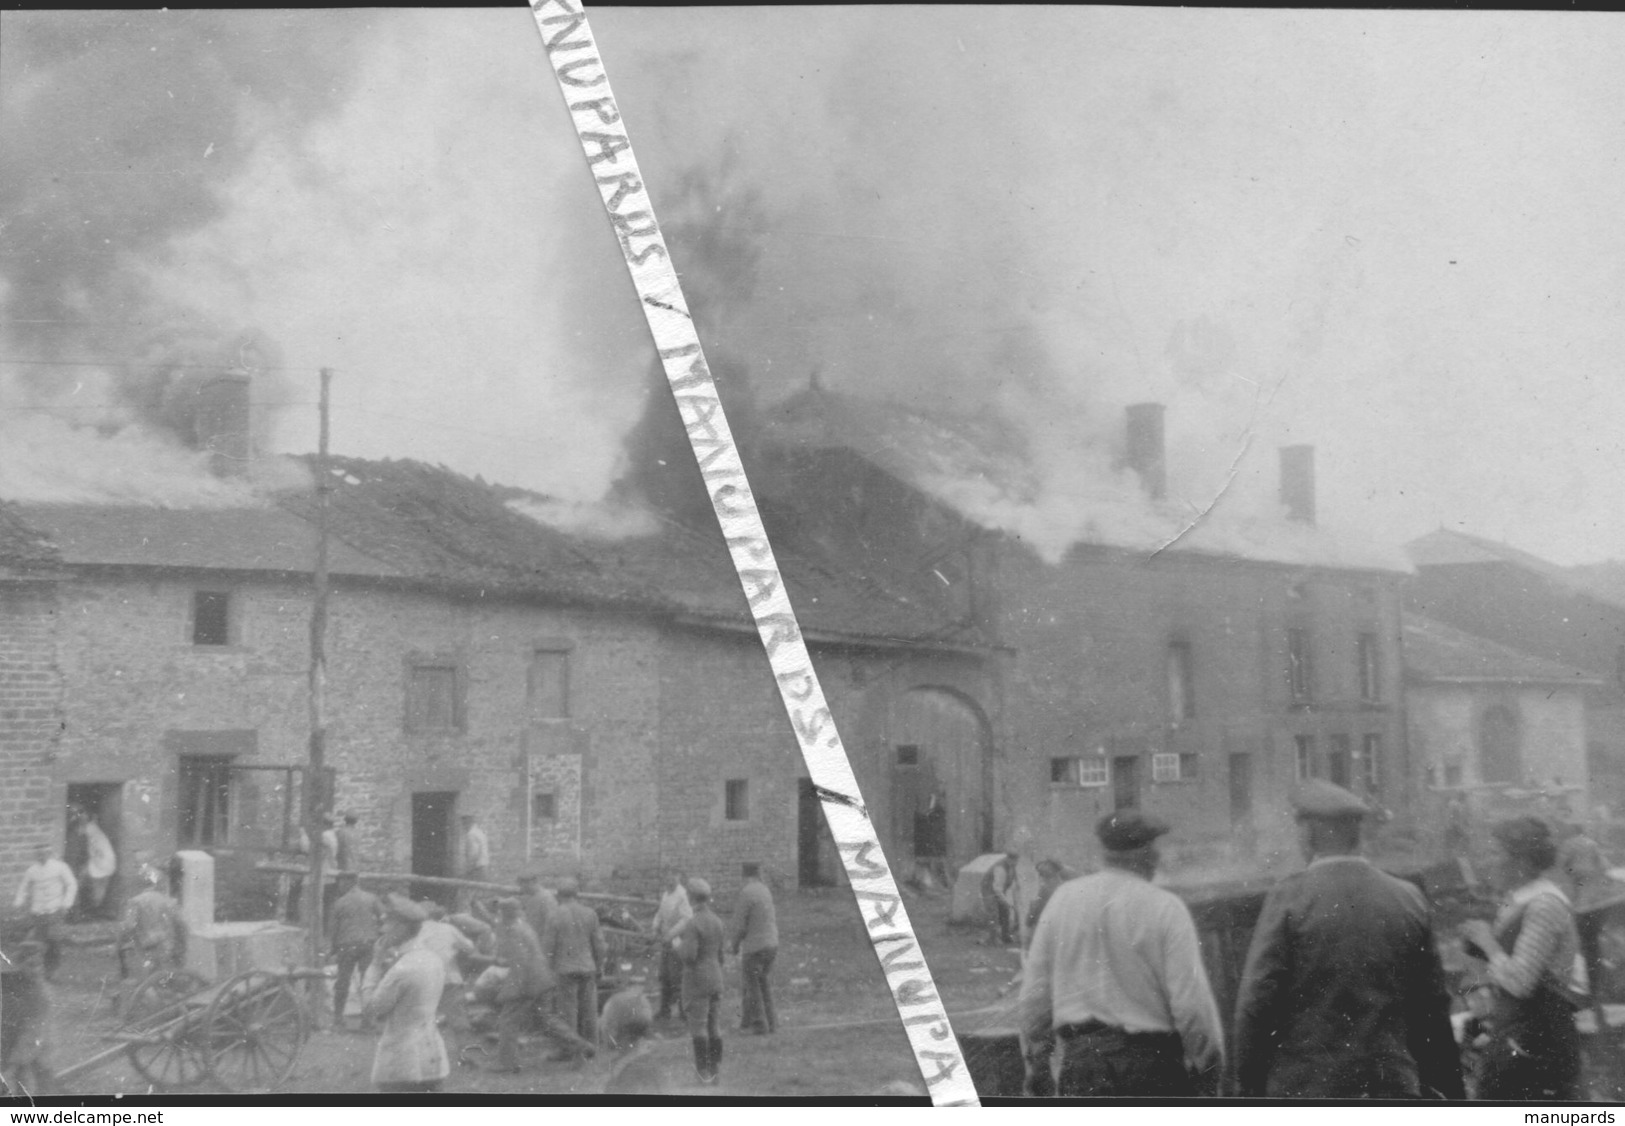
<svg viewBox="0 0 1625 1126">
<path fill-rule="evenodd" d="M 1453 1014 L 1427 899 L 1360 855 L 1373 811 L 1311 780 L 1295 814 L 1308 866 L 1264 899 L 1228 1037 L 1191 912 L 1152 884 L 1168 824 L 1098 822 L 1102 871 L 1051 892 L 1022 972 L 1029 1094 L 1581 1098 L 1580 877 L 1563 879 L 1547 821 L 1490 834 L 1505 899 L 1461 926 L 1467 1004 Z M 1586 843 L 1562 858 L 1602 864 Z"/>
</svg>

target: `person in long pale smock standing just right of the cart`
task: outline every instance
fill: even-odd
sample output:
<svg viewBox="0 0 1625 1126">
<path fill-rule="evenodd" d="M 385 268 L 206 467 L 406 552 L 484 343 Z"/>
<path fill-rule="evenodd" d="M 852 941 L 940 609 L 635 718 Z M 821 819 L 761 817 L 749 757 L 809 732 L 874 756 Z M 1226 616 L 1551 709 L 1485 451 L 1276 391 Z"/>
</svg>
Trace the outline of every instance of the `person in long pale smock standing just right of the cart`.
<svg viewBox="0 0 1625 1126">
<path fill-rule="evenodd" d="M 427 913 L 405 895 L 388 900 L 385 941 L 401 955 L 367 998 L 367 1019 L 384 1025 L 372 1056 L 372 1082 L 382 1092 L 431 1092 L 452 1072 L 434 1016 L 445 970 L 432 951 L 416 946 Z"/>
</svg>

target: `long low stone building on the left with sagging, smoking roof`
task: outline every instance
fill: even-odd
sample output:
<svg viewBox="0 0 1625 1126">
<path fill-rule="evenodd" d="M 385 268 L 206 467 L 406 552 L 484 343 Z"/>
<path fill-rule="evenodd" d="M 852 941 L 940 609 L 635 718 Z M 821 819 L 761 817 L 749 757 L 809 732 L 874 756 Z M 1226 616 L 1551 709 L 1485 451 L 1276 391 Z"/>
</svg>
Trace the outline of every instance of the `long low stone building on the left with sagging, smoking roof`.
<svg viewBox="0 0 1625 1126">
<path fill-rule="evenodd" d="M 759 860 L 837 877 L 715 528 L 644 513 L 614 535 L 561 531 L 528 515 L 543 499 L 445 470 L 332 471 L 327 762 L 369 866 L 450 873 L 471 812 L 500 876 L 676 863 L 726 887 Z M 29 704 L 0 731 L 16 733 L 5 769 L 26 772 L 6 788 L 21 837 L 60 842 L 68 806 L 89 808 L 125 856 L 205 848 L 247 882 L 297 840 L 309 489 L 10 517 L 8 543 L 50 544 L 55 567 L 3 591 L 8 656 L 28 663 L 0 681 Z M 793 536 L 775 549 L 848 741 L 907 741 L 915 700 L 988 694 L 985 647 L 944 630 L 933 591 Z M 0 879 L 20 873 L 21 837 L 5 838 Z"/>
</svg>

